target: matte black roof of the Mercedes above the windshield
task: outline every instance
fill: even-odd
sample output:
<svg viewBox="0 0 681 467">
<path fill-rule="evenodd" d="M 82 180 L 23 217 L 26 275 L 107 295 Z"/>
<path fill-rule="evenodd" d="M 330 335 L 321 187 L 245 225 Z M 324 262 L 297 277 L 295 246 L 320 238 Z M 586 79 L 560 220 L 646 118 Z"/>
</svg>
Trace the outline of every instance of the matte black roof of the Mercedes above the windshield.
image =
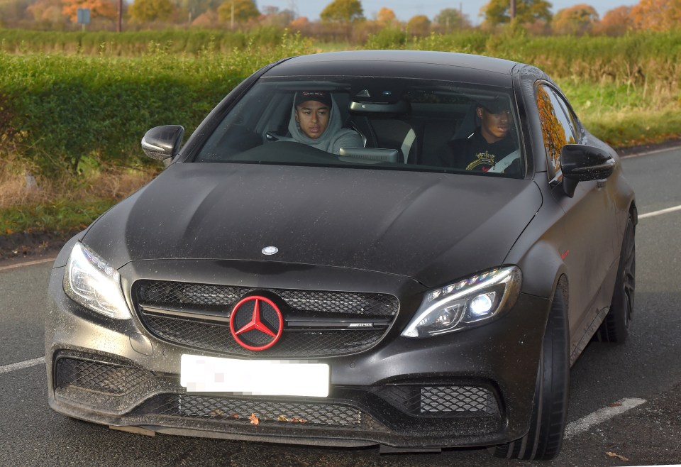
<svg viewBox="0 0 681 467">
<path fill-rule="evenodd" d="M 517 62 L 465 53 L 425 50 L 354 50 L 301 55 L 267 70 L 263 77 L 367 76 L 445 79 L 511 87 Z"/>
</svg>

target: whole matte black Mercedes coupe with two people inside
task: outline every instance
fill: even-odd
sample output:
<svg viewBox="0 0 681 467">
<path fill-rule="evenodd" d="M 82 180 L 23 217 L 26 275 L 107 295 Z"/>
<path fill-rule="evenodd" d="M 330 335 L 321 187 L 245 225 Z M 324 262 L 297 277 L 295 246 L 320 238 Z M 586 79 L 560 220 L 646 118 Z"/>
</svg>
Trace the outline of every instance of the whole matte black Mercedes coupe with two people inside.
<svg viewBox="0 0 681 467">
<path fill-rule="evenodd" d="M 182 123 L 182 122 L 177 122 Z M 634 193 L 531 65 L 367 50 L 233 89 L 55 261 L 50 406 L 137 432 L 560 451 L 629 332 Z"/>
</svg>

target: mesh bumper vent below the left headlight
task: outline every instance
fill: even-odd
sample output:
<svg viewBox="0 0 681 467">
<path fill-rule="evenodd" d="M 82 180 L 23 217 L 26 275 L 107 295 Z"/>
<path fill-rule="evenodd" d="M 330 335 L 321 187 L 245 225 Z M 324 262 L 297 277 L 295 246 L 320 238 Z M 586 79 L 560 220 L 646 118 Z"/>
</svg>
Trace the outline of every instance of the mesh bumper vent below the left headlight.
<svg viewBox="0 0 681 467">
<path fill-rule="evenodd" d="M 121 395 L 149 380 L 150 373 L 114 363 L 59 358 L 55 368 L 57 388 L 75 387 L 111 395 Z"/>
</svg>

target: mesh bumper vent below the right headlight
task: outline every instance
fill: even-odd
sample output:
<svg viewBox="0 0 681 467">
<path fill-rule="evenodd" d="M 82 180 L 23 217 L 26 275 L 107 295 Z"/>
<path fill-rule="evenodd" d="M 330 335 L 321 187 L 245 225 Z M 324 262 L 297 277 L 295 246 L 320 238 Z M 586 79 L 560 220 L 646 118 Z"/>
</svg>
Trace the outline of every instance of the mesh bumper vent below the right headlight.
<svg viewBox="0 0 681 467">
<path fill-rule="evenodd" d="M 387 385 L 373 390 L 403 412 L 421 417 L 460 417 L 466 414 L 499 416 L 492 390 L 458 385 Z"/>
</svg>

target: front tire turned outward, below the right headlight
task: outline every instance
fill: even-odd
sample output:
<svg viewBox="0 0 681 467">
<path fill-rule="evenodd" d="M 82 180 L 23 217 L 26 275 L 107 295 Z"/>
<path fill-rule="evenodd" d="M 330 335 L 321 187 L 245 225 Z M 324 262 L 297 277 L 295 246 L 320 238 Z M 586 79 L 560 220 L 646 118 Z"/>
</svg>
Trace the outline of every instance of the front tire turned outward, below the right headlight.
<svg viewBox="0 0 681 467">
<path fill-rule="evenodd" d="M 496 446 L 495 457 L 545 461 L 558 456 L 563 444 L 570 380 L 566 285 L 561 278 L 546 324 L 530 431 L 521 439 Z"/>
</svg>

